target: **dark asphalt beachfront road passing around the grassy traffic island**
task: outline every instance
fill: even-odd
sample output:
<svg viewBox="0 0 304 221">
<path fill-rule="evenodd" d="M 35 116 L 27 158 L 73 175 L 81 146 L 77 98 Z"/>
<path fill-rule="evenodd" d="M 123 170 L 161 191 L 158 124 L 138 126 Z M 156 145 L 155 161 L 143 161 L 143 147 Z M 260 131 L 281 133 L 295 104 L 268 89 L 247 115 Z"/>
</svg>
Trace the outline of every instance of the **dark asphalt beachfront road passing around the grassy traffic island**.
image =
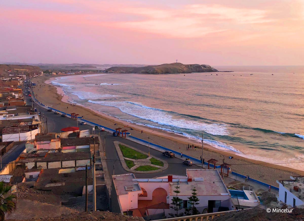
<svg viewBox="0 0 304 221">
<path fill-rule="evenodd" d="M 27 96 L 26 96 L 27 97 Z M 31 101 L 29 101 L 29 97 L 27 97 L 27 104 L 32 104 Z M 37 108 L 37 104 L 33 103 L 34 107 Z M 47 121 L 47 129 L 45 126 L 45 132 L 58 132 L 60 133 L 60 130 L 65 127 L 76 127 L 77 121 L 73 120 L 69 117 L 61 117 L 60 114 L 54 114 L 54 112 L 48 112 L 47 109 L 39 107 L 39 112 L 41 112 L 41 117 L 44 117 L 44 122 Z M 78 121 L 78 127 L 80 130 L 90 130 L 90 133 L 92 133 L 92 126 L 90 125 L 81 125 L 80 121 Z M 98 133 L 98 131 L 96 131 Z M 97 135 L 97 134 L 96 134 Z M 123 137 L 113 137 L 112 134 L 102 131 L 100 132 L 101 137 L 101 143 L 104 144 L 105 140 L 105 156 L 107 157 L 107 167 L 109 170 L 110 177 L 114 174 L 124 174 L 124 173 L 130 173 L 123 169 L 121 163 L 119 162 L 118 154 L 116 151 L 116 148 L 114 146 L 114 141 L 120 141 L 122 143 L 125 143 L 127 145 L 130 145 L 138 150 L 142 150 L 148 154 L 148 147 L 141 145 L 139 143 L 136 143 L 132 140 L 125 139 Z M 150 155 L 153 155 L 155 157 L 158 157 L 164 161 L 164 163 L 168 162 L 168 168 L 164 171 L 158 172 L 158 173 L 136 173 L 136 177 L 138 178 L 153 178 L 155 176 L 163 176 L 167 174 L 180 174 L 185 175 L 186 174 L 186 168 L 193 168 L 198 169 L 200 167 L 196 165 L 192 165 L 191 167 L 187 167 L 186 165 L 182 164 L 182 160 L 178 158 L 168 158 L 162 155 L 162 153 L 158 150 L 154 150 L 150 148 Z M 116 160 L 118 159 L 118 160 Z M 116 160 L 116 161 L 115 161 Z"/>
</svg>

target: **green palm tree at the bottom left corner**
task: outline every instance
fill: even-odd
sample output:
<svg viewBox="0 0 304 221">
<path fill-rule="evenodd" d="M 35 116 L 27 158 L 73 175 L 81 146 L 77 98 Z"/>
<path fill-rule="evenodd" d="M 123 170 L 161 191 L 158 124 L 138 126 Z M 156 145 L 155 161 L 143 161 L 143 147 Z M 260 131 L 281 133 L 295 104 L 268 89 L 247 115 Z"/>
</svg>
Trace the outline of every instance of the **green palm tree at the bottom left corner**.
<svg viewBox="0 0 304 221">
<path fill-rule="evenodd" d="M 10 194 L 12 186 L 0 182 L 0 221 L 4 221 L 6 214 L 11 214 L 16 210 L 16 203 L 13 199 L 16 197 L 14 194 Z"/>
</svg>

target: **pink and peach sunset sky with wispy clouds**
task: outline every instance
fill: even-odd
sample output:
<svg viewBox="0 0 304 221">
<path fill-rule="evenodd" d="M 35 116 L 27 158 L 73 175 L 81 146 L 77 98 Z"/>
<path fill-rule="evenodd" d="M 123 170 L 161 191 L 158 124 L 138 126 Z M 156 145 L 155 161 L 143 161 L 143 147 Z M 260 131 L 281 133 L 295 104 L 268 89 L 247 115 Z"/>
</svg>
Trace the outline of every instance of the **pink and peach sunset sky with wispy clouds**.
<svg viewBox="0 0 304 221">
<path fill-rule="evenodd" d="M 303 0 L 3 0 L 2 62 L 304 65 Z"/>
</svg>

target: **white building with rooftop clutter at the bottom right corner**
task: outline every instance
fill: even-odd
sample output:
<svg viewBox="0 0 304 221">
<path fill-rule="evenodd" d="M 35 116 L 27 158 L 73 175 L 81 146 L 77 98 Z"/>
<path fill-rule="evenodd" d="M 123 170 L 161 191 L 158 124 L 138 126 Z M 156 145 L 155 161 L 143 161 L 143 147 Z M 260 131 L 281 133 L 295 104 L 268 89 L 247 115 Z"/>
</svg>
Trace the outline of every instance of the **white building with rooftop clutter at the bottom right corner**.
<svg viewBox="0 0 304 221">
<path fill-rule="evenodd" d="M 304 205 L 304 177 L 292 177 L 290 180 L 277 180 L 279 201 L 292 207 Z"/>
</svg>

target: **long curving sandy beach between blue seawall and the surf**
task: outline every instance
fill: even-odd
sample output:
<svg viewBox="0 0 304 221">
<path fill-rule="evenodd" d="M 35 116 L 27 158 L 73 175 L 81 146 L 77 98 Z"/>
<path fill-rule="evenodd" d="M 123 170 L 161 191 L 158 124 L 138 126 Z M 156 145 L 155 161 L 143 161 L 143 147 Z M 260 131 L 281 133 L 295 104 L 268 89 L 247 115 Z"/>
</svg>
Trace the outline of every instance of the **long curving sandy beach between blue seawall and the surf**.
<svg viewBox="0 0 304 221">
<path fill-rule="evenodd" d="M 33 78 L 32 82 L 36 83 L 36 87 L 33 88 L 33 91 L 36 95 L 38 95 L 37 99 L 38 101 L 42 102 L 43 104 L 51 104 L 53 105 L 53 108 L 60 110 L 61 104 L 61 110 L 63 112 L 67 113 L 77 113 L 79 116 L 83 116 L 84 119 L 90 120 L 92 122 L 95 122 L 96 124 L 101 124 L 105 127 L 113 128 L 116 127 L 132 127 L 134 130 L 131 130 L 131 134 L 135 137 L 139 137 L 142 139 L 146 139 L 147 137 L 150 137 L 150 142 L 159 144 L 161 146 L 170 148 L 172 150 L 176 150 L 178 152 L 183 152 L 184 154 L 187 154 L 192 157 L 200 158 L 202 155 L 202 143 L 195 143 L 193 141 L 187 140 L 183 136 L 179 136 L 177 134 L 165 132 L 158 129 L 151 129 L 148 127 L 138 126 L 135 124 L 130 124 L 127 122 L 124 122 L 122 120 L 118 120 L 114 117 L 110 117 L 108 115 L 95 112 L 92 110 L 89 110 L 85 107 L 81 107 L 78 105 L 71 106 L 71 103 L 68 101 L 68 97 L 66 95 L 62 96 L 60 94 L 64 94 L 64 92 L 61 90 L 60 87 L 55 87 L 53 85 L 49 85 L 50 77 L 39 77 L 39 78 Z M 52 77 L 54 78 L 54 77 Z M 46 83 L 45 83 L 46 82 Z M 41 85 L 41 86 L 40 86 Z M 114 125 L 114 124 L 117 125 Z M 68 126 L 68 125 L 67 125 Z M 71 125 L 71 126 L 76 126 Z M 143 130 L 143 133 L 141 133 L 141 130 Z M 196 150 L 190 149 L 186 150 L 186 146 L 188 146 L 188 143 L 194 144 L 195 146 L 199 146 Z M 233 156 L 234 159 L 229 159 L 229 156 Z M 264 164 L 261 165 L 261 161 L 258 160 L 251 160 L 244 157 L 237 156 L 233 154 L 233 152 L 224 152 L 220 150 L 216 150 L 214 147 L 205 144 L 204 143 L 204 158 L 205 161 L 214 158 L 219 160 L 218 164 L 221 164 L 223 162 L 223 159 L 225 158 L 225 162 L 231 164 L 231 170 L 240 174 L 244 175 L 250 175 L 250 177 L 261 180 L 265 183 L 269 183 L 273 186 L 278 186 L 278 184 L 275 182 L 276 180 L 281 179 L 289 179 L 292 175 L 304 175 L 303 171 L 295 170 L 288 167 L 282 167 L 275 164 Z M 280 161 L 280 160 L 278 160 Z"/>
</svg>

